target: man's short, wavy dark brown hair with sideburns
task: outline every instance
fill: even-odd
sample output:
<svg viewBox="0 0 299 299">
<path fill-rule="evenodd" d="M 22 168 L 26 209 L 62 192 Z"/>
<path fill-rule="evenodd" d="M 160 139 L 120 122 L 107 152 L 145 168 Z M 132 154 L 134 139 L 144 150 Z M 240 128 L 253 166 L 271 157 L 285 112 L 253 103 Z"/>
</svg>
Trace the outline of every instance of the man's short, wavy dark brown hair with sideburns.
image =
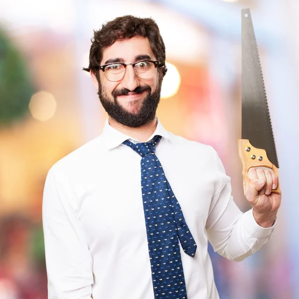
<svg viewBox="0 0 299 299">
<path fill-rule="evenodd" d="M 133 15 L 117 17 L 103 24 L 100 30 L 94 30 L 89 52 L 89 67 L 83 68 L 83 70 L 92 71 L 100 81 L 98 70 L 103 59 L 103 50 L 117 40 L 130 39 L 135 36 L 149 39 L 154 56 L 160 62 L 160 66 L 164 66 L 159 68 L 160 74 L 164 76 L 167 71 L 165 66 L 165 45 L 156 22 L 151 18 L 140 18 Z"/>
</svg>

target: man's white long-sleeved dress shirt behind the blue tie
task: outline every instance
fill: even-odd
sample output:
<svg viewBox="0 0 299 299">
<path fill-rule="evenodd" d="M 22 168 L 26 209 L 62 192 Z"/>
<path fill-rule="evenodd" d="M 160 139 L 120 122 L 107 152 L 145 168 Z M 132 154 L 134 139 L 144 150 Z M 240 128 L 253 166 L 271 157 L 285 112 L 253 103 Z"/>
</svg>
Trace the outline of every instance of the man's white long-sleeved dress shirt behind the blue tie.
<svg viewBox="0 0 299 299">
<path fill-rule="evenodd" d="M 230 178 L 210 146 L 167 132 L 155 154 L 197 244 L 181 250 L 188 299 L 218 299 L 207 247 L 242 261 L 274 229 L 242 213 Z M 141 156 L 108 120 L 103 133 L 56 162 L 43 195 L 49 299 L 154 299 L 143 200 Z M 138 142 L 138 141 L 135 141 Z"/>
</svg>

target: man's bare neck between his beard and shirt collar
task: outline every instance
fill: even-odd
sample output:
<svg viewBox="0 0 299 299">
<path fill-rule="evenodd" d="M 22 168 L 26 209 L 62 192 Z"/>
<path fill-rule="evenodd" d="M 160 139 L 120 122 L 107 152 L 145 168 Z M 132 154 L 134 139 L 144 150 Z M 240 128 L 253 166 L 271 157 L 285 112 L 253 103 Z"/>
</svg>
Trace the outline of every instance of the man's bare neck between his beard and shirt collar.
<svg viewBox="0 0 299 299">
<path fill-rule="evenodd" d="M 113 118 L 109 117 L 109 125 L 119 132 L 133 137 L 140 142 L 147 142 L 157 127 L 157 118 L 155 117 L 152 121 L 142 127 L 131 128 L 124 126 Z"/>
</svg>

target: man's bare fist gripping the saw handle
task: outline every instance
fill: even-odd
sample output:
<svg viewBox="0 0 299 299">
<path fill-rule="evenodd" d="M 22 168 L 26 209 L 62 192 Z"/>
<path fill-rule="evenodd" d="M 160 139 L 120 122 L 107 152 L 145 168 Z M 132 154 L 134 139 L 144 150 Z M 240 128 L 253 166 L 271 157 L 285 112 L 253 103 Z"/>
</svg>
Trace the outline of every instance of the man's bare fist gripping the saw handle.
<svg viewBox="0 0 299 299">
<path fill-rule="evenodd" d="M 278 177 L 268 167 L 251 167 L 248 170 L 250 183 L 244 194 L 253 207 L 256 222 L 262 227 L 271 227 L 275 221 L 278 208 L 281 204 L 281 195 L 272 192 L 278 184 Z"/>
</svg>

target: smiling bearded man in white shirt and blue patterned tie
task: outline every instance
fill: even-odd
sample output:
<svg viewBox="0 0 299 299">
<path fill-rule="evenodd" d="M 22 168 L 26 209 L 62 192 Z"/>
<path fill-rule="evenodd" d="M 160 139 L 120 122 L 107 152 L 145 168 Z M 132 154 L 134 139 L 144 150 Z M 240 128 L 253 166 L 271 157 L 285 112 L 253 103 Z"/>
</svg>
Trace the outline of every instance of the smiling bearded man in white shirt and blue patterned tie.
<svg viewBox="0 0 299 299">
<path fill-rule="evenodd" d="M 208 240 L 242 261 L 267 242 L 281 197 L 252 168 L 242 213 L 214 149 L 155 116 L 165 47 L 150 18 L 94 32 L 89 68 L 109 114 L 103 133 L 49 170 L 43 227 L 49 299 L 217 299 Z"/>
</svg>

